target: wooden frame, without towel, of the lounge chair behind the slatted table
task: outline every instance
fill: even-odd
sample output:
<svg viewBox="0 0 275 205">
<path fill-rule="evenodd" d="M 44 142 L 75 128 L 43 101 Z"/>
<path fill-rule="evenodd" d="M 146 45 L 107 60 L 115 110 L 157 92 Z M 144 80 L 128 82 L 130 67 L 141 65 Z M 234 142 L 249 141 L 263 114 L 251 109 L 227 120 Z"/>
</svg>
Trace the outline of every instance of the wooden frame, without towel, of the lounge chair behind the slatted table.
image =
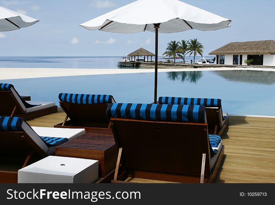
<svg viewBox="0 0 275 205">
<path fill-rule="evenodd" d="M 86 132 L 94 128 L 108 128 L 109 122 L 106 116 L 108 103 L 84 105 L 59 101 L 59 105 L 66 113 L 66 117 L 63 123 L 56 124 L 54 127 L 85 128 Z"/>
</svg>

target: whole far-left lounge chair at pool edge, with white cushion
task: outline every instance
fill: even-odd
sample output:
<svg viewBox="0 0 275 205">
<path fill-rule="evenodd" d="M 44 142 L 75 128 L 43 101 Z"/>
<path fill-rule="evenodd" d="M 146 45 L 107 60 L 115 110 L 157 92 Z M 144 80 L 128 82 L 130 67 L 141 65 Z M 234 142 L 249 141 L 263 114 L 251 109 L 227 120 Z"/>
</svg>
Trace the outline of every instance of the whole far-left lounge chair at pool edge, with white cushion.
<svg viewBox="0 0 275 205">
<path fill-rule="evenodd" d="M 54 102 L 25 101 L 8 83 L 0 83 L 0 99 L 0 116 L 30 120 L 57 112 Z"/>
</svg>

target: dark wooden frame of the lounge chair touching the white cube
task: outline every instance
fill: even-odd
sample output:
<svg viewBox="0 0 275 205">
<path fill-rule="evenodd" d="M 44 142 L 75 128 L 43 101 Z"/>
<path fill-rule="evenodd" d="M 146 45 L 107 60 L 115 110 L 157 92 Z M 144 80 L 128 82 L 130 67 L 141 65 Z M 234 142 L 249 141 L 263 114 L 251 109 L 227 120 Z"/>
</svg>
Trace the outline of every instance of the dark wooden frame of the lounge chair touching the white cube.
<svg viewBox="0 0 275 205">
<path fill-rule="evenodd" d="M 17 183 L 18 170 L 47 154 L 25 131 L 1 131 L 0 183 Z"/>
</svg>

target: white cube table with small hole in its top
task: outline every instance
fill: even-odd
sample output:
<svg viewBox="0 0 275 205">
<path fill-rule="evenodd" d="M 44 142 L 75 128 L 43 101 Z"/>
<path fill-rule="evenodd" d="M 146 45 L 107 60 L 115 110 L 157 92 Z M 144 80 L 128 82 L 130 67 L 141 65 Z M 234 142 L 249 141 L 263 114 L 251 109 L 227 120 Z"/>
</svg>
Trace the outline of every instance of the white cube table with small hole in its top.
<svg viewBox="0 0 275 205">
<path fill-rule="evenodd" d="M 18 170 L 18 183 L 92 183 L 98 160 L 48 156 Z"/>
</svg>

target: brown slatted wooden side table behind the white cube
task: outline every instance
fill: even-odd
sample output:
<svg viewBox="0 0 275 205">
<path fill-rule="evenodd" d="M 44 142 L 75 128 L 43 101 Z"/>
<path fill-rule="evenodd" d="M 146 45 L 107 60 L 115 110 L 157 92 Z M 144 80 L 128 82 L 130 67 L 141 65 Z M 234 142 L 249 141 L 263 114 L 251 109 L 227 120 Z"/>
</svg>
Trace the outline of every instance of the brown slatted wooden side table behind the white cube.
<svg viewBox="0 0 275 205">
<path fill-rule="evenodd" d="M 118 148 L 111 129 L 95 128 L 56 147 L 55 155 L 98 160 L 98 175 L 105 177 L 116 167 Z"/>
</svg>

